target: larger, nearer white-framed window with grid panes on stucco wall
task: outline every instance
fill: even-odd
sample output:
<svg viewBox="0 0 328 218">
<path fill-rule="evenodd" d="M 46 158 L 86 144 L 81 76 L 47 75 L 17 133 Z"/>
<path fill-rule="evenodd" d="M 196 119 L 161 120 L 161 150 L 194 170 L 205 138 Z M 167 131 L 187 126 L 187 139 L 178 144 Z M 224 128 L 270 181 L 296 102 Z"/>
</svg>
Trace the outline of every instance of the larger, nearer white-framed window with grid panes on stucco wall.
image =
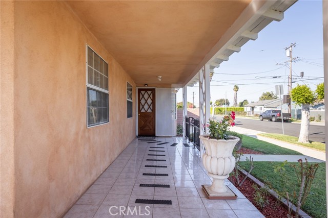
<svg viewBox="0 0 328 218">
<path fill-rule="evenodd" d="M 87 46 L 87 126 L 109 122 L 108 63 Z"/>
</svg>

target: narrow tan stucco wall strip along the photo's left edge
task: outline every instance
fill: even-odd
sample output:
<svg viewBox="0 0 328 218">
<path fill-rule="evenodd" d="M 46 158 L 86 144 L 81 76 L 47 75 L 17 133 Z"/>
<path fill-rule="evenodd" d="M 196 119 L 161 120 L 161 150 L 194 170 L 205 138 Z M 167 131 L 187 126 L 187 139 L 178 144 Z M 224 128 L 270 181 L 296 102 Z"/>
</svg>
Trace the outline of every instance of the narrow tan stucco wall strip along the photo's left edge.
<svg viewBox="0 0 328 218">
<path fill-rule="evenodd" d="M 14 4 L 0 2 L 0 217 L 14 214 Z"/>
</svg>

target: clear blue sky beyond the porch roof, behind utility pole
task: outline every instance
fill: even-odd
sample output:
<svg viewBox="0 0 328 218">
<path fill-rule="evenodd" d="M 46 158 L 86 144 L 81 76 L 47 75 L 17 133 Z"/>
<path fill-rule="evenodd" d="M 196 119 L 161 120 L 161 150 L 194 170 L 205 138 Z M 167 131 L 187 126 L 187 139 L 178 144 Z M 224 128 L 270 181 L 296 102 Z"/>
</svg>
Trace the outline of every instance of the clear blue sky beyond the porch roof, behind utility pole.
<svg viewBox="0 0 328 218">
<path fill-rule="evenodd" d="M 238 102 L 243 100 L 258 101 L 262 92 L 275 92 L 275 85 L 283 85 L 285 94 L 288 91 L 289 65 L 285 47 L 291 43 L 293 47 L 292 78 L 296 84 L 306 84 L 312 90 L 316 84 L 323 82 L 323 42 L 322 42 L 322 1 L 298 1 L 284 13 L 280 22 L 273 21 L 265 27 L 255 41 L 248 41 L 239 53 L 229 57 L 215 68 L 211 82 L 211 101 L 225 97 L 233 104 L 234 85 L 239 86 Z M 282 64 L 282 65 L 276 65 Z M 304 77 L 300 78 L 300 72 Z M 259 74 L 255 74 L 259 73 Z M 227 75 L 226 75 L 227 74 Z M 243 74 L 243 75 L 234 75 Z M 280 78 L 271 78 L 280 76 Z M 303 80 L 303 81 L 302 81 Z M 199 105 L 198 87 L 188 88 L 188 101 Z M 179 90 L 177 101 L 182 101 L 182 89 Z"/>
</svg>

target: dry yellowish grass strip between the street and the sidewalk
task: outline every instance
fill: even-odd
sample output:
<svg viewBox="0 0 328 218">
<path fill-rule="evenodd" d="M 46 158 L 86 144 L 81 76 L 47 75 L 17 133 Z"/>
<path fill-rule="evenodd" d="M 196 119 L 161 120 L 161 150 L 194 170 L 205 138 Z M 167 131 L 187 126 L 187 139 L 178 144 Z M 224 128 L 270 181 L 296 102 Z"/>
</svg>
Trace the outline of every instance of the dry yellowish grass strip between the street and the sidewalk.
<svg viewBox="0 0 328 218">
<path fill-rule="evenodd" d="M 289 135 L 282 135 L 282 134 L 275 134 L 275 133 L 261 133 L 258 134 L 260 136 L 268 137 L 268 138 L 274 138 L 280 141 L 285 141 L 293 144 L 297 144 L 298 146 L 306 147 L 315 149 L 318 151 L 325 152 L 325 144 L 317 141 L 310 141 L 310 143 L 301 143 L 297 142 L 298 138 L 295 136 L 289 136 Z"/>
</svg>

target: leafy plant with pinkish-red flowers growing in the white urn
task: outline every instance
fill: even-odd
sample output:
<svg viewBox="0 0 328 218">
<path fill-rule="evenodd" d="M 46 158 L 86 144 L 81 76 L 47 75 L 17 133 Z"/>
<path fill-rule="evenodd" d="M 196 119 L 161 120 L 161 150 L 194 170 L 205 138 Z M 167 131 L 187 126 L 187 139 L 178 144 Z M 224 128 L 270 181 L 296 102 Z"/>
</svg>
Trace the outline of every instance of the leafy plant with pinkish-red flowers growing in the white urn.
<svg viewBox="0 0 328 218">
<path fill-rule="evenodd" d="M 229 115 L 223 117 L 221 121 L 210 119 L 209 128 L 210 138 L 214 139 L 228 139 L 229 127 L 235 126 L 235 112 L 232 111 Z"/>
</svg>

